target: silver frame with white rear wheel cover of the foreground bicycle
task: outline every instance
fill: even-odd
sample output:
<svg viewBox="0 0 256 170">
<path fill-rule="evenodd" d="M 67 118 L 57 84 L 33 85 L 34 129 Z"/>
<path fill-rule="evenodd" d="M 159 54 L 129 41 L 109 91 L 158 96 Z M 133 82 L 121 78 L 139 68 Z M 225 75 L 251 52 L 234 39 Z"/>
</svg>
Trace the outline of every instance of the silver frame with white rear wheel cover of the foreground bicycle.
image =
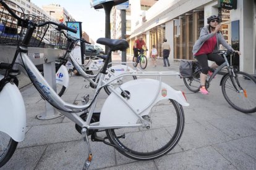
<svg viewBox="0 0 256 170">
<path fill-rule="evenodd" d="M 34 84 L 38 92 L 40 92 L 40 94 L 51 105 L 53 105 L 53 107 L 57 108 L 63 115 L 67 116 L 67 118 L 71 119 L 72 121 L 74 121 L 74 123 L 78 124 L 81 127 L 87 127 L 88 129 L 113 129 L 113 128 L 121 128 L 121 127 L 145 126 L 145 124 L 148 124 L 148 121 L 143 119 L 142 116 L 148 114 L 153 103 L 156 103 L 163 98 L 174 99 L 177 102 L 179 102 L 181 105 L 185 105 L 185 106 L 189 105 L 186 102 L 186 99 L 182 95 L 181 91 L 176 91 L 170 86 L 168 86 L 167 84 L 161 83 L 161 76 L 178 74 L 176 72 L 171 72 L 171 71 L 168 73 L 161 73 L 161 72 L 154 72 L 154 71 L 151 71 L 149 73 L 143 73 L 143 72 L 137 73 L 135 71 L 129 71 L 126 73 L 122 73 L 121 75 L 116 76 L 113 79 L 110 79 L 107 83 L 104 80 L 105 75 L 103 73 L 100 73 L 99 83 L 98 83 L 98 86 L 96 86 L 96 92 L 93 97 L 93 101 L 91 103 L 87 103 L 86 105 L 73 105 L 70 103 L 66 103 L 49 86 L 49 84 L 41 75 L 40 71 L 37 70 L 35 65 L 33 65 L 31 60 L 28 58 L 27 54 L 24 52 L 21 52 L 20 54 L 21 55 L 20 57 L 18 57 L 18 59 L 22 60 L 23 65 L 27 70 L 28 76 L 30 77 L 32 83 Z M 98 99 L 98 92 L 100 92 L 100 89 L 103 86 L 107 86 L 108 84 L 111 84 L 111 82 L 115 81 L 116 79 L 122 76 L 132 76 L 132 75 L 136 75 L 136 76 L 158 75 L 160 76 L 160 81 L 156 81 L 154 79 L 140 79 L 139 81 L 129 81 L 127 83 L 124 83 L 122 84 L 122 86 L 120 86 L 117 89 L 114 89 L 113 87 L 110 86 L 109 89 L 113 93 L 109 95 L 108 99 L 106 100 L 106 103 L 103 106 L 103 109 L 101 111 L 102 117 L 100 118 L 100 122 L 93 123 L 91 125 L 90 119 L 92 118 L 93 111 L 96 105 L 96 100 Z M 145 87 L 148 86 L 148 84 L 151 84 L 151 86 L 147 87 L 147 92 L 155 91 L 155 93 L 153 95 L 150 95 L 150 97 L 147 96 L 147 100 L 143 100 L 144 102 L 142 103 L 137 102 L 137 99 L 132 99 L 132 97 L 130 100 L 124 99 L 124 97 L 122 97 L 122 95 L 120 94 L 120 89 L 127 88 L 129 89 L 129 91 L 134 91 L 134 90 L 137 90 L 139 86 L 140 86 L 139 88 L 145 89 Z M 167 94 L 165 95 L 164 92 L 167 92 Z M 141 94 L 141 96 L 143 95 L 145 94 Z M 114 111 L 114 113 L 113 111 L 111 113 L 111 111 L 109 111 L 109 110 L 113 110 L 113 108 L 116 108 L 117 106 L 116 102 L 111 102 L 111 101 L 116 101 L 122 105 L 122 107 L 119 106 L 117 109 L 117 110 L 122 109 L 122 119 L 119 119 L 119 117 L 117 117 L 117 119 L 113 119 L 113 116 L 115 117 L 120 112 L 116 110 Z M 83 119 L 80 118 L 79 115 L 89 107 L 90 107 L 90 110 L 88 112 L 87 120 L 83 121 Z M 128 109 L 124 109 L 124 107 Z M 140 119 L 142 123 L 137 124 L 136 122 L 138 119 Z"/>
</svg>

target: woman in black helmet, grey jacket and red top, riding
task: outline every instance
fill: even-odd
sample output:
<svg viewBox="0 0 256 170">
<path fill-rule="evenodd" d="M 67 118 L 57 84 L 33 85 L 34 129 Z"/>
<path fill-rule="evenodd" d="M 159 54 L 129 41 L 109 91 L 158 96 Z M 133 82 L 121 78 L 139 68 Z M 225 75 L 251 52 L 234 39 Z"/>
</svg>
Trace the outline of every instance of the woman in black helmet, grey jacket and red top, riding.
<svg viewBox="0 0 256 170">
<path fill-rule="evenodd" d="M 200 73 L 200 92 L 202 94 L 208 94 L 205 88 L 205 81 L 207 74 L 212 74 L 212 72 L 209 71 L 208 60 L 214 62 L 210 68 L 217 68 L 225 62 L 225 60 L 217 54 L 220 44 L 226 47 L 226 49 L 234 51 L 220 33 L 220 18 L 216 15 L 211 15 L 207 18 L 207 23 L 208 25 L 200 30 L 199 39 L 195 42 L 192 50 L 195 59 L 198 60 L 198 63 L 200 63 L 202 67 L 202 73 Z M 239 51 L 236 52 L 240 55 Z"/>
</svg>

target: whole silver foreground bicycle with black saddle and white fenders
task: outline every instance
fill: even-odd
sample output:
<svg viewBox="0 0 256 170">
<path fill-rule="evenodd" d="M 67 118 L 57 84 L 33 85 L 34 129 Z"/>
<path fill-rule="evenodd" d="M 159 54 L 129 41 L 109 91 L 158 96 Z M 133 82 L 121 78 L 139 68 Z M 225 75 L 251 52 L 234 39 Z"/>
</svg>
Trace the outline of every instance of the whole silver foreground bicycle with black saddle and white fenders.
<svg viewBox="0 0 256 170">
<path fill-rule="evenodd" d="M 176 91 L 168 84 L 161 82 L 161 78 L 164 75 L 176 75 L 176 73 L 148 73 L 145 75 L 158 75 L 159 80 L 132 80 L 116 89 L 109 86 L 111 94 L 106 99 L 99 116 L 98 113 L 94 113 L 94 108 L 98 94 L 104 86 L 108 86 L 121 76 L 144 75 L 126 72 L 106 83 L 104 77 L 111 52 L 125 51 L 129 44 L 124 39 L 100 38 L 97 42 L 108 46 L 109 52 L 100 71 L 100 78 L 92 102 L 85 105 L 64 102 L 28 58 L 27 47 L 33 32 L 42 26 L 51 24 L 58 26 L 59 30 L 69 30 L 74 33 L 76 31 L 54 22 L 35 23 L 32 20 L 20 18 L 7 6 L 6 2 L 8 4 L 13 3 L 1 0 L 0 4 L 5 9 L 3 11 L 9 12 L 9 15 L 6 15 L 8 18 L 18 20 L 19 25 L 16 23 L 15 26 L 21 31 L 19 35 L 12 36 L 17 42 L 17 51 L 12 63 L 0 63 L 0 68 L 6 70 L 6 74 L 1 76 L 0 81 L 0 167 L 4 166 L 11 158 L 17 147 L 17 142 L 21 142 L 25 137 L 25 105 L 19 89 L 14 84 L 20 66 L 25 69 L 33 86 L 40 92 L 41 96 L 80 127 L 79 132 L 83 134 L 86 147 L 89 150 L 83 169 L 88 169 L 92 161 L 89 135 L 92 136 L 92 141 L 111 145 L 122 155 L 135 160 L 159 158 L 175 147 L 184 129 L 182 106 L 188 106 L 189 103 L 186 102 L 181 91 Z M 17 4 L 11 5 L 17 6 Z M 2 33 L 1 36 L 6 36 L 6 33 Z M 158 111 L 159 107 L 166 111 L 164 113 L 162 110 L 161 112 Z M 97 132 L 101 131 L 106 132 L 106 137 L 96 135 Z"/>
</svg>

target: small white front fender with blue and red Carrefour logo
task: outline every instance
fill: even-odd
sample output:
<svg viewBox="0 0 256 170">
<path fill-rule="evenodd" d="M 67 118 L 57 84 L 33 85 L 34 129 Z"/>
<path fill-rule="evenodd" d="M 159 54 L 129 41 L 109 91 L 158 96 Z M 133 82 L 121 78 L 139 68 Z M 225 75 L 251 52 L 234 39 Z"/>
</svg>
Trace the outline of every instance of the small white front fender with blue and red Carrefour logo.
<svg viewBox="0 0 256 170">
<path fill-rule="evenodd" d="M 69 72 L 64 65 L 61 65 L 56 73 L 56 83 L 62 84 L 62 86 L 65 86 L 66 88 L 69 87 Z"/>
</svg>

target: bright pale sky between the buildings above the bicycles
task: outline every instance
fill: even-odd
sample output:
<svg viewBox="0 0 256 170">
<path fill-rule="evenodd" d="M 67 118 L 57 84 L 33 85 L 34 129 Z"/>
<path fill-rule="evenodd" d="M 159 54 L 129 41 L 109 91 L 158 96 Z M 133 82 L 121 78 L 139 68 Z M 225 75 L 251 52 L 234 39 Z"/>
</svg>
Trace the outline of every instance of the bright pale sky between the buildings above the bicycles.
<svg viewBox="0 0 256 170">
<path fill-rule="evenodd" d="M 31 0 L 38 7 L 48 4 L 60 4 L 76 21 L 82 22 L 82 30 L 87 32 L 90 38 L 105 37 L 105 12 L 103 9 L 91 8 L 89 0 Z"/>
</svg>

